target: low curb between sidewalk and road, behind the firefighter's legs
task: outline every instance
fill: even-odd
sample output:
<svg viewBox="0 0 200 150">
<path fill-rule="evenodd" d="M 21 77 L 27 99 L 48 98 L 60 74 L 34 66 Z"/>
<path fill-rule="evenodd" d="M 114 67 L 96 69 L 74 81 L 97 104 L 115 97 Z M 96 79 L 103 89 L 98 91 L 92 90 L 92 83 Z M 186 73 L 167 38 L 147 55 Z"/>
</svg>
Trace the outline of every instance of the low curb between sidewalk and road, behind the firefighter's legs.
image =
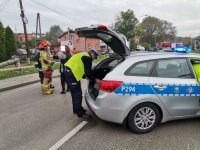
<svg viewBox="0 0 200 150">
<path fill-rule="evenodd" d="M 60 77 L 60 75 L 53 76 L 52 78 L 58 78 L 58 77 Z M 5 91 L 9 91 L 9 90 L 13 90 L 13 89 L 16 89 L 16 88 L 19 88 L 19 87 L 23 87 L 23 86 L 26 86 L 26 85 L 34 84 L 34 83 L 37 83 L 37 82 L 40 82 L 40 80 L 38 79 L 38 80 L 35 80 L 35 81 L 29 81 L 29 82 L 26 82 L 26 83 L 5 87 L 5 88 L 0 89 L 0 93 L 5 92 Z"/>
</svg>

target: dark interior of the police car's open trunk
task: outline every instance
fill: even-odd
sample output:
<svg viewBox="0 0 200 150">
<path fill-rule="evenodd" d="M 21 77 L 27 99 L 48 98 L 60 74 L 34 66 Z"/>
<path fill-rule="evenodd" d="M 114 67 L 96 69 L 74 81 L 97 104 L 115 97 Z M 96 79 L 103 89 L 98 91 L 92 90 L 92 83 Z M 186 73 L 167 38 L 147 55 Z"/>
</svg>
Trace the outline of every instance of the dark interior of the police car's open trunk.
<svg viewBox="0 0 200 150">
<path fill-rule="evenodd" d="M 106 74 L 112 71 L 122 61 L 124 61 L 124 57 L 117 54 L 110 55 L 110 57 L 104 59 L 97 66 L 95 66 L 94 76 L 99 80 L 103 80 Z M 99 84 L 95 83 L 95 81 L 89 81 L 88 92 L 95 100 L 99 94 Z"/>
</svg>

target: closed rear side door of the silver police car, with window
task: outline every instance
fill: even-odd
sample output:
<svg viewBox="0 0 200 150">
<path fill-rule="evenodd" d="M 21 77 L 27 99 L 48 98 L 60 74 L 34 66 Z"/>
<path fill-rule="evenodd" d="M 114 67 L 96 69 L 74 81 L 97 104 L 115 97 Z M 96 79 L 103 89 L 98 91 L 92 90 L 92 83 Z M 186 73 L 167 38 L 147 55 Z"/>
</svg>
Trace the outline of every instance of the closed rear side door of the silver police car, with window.
<svg viewBox="0 0 200 150">
<path fill-rule="evenodd" d="M 172 116 L 195 115 L 200 110 L 199 86 L 186 58 L 157 60 L 149 82 Z"/>
</svg>

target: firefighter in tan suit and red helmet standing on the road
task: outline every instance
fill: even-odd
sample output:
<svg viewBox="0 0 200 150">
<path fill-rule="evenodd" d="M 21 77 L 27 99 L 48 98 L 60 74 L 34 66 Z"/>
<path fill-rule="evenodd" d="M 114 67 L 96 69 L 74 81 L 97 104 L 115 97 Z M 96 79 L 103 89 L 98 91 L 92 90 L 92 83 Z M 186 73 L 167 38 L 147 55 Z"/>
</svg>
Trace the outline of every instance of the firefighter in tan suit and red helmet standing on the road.
<svg viewBox="0 0 200 150">
<path fill-rule="evenodd" d="M 40 62 L 42 64 L 42 72 L 44 74 L 42 90 L 44 94 L 52 94 L 54 86 L 52 86 L 52 72 L 53 72 L 53 56 L 49 51 L 50 43 L 47 40 L 43 40 L 38 46 L 42 51 L 40 52 Z"/>
</svg>

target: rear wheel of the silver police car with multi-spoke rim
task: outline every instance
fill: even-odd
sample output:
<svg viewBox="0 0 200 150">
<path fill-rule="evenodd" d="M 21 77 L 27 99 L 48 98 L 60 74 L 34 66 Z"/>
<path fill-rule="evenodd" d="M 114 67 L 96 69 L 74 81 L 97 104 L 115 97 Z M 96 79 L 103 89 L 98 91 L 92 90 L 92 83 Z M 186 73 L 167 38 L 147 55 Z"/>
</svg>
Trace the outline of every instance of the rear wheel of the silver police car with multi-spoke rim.
<svg viewBox="0 0 200 150">
<path fill-rule="evenodd" d="M 160 122 L 160 113 L 156 105 L 142 103 L 135 106 L 128 115 L 128 126 L 135 133 L 147 133 Z"/>
</svg>

